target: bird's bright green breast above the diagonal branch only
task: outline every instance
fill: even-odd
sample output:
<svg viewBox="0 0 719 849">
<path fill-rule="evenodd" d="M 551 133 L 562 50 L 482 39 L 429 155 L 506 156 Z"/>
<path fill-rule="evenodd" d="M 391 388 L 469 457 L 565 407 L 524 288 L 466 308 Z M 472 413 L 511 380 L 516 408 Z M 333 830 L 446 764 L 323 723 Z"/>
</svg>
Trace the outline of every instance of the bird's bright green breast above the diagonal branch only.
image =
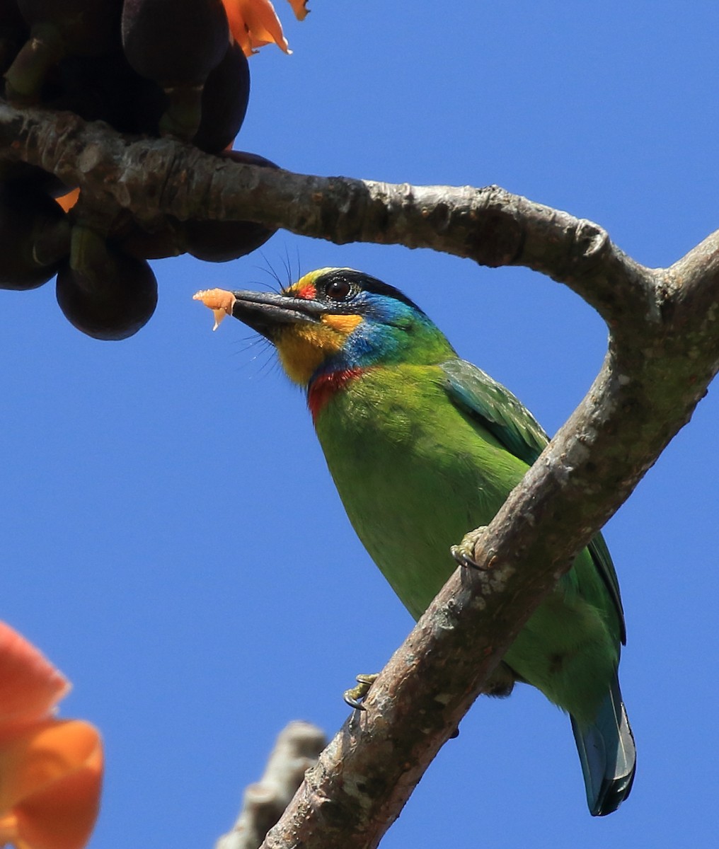
<svg viewBox="0 0 719 849">
<path fill-rule="evenodd" d="M 352 526 L 418 618 L 456 567 L 452 544 L 492 519 L 526 465 L 469 423 L 431 366 L 368 371 L 316 424 Z"/>
</svg>

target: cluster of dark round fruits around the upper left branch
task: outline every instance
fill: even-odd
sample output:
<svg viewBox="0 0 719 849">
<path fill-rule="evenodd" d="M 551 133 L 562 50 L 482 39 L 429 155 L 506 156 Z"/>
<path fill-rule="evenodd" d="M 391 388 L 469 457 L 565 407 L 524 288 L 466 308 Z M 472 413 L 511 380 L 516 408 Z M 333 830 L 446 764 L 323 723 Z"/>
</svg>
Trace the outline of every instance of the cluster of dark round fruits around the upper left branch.
<svg viewBox="0 0 719 849">
<path fill-rule="evenodd" d="M 222 0 L 0 0 L 0 70 L 5 98 L 19 107 L 69 110 L 118 132 L 171 135 L 277 167 L 227 149 L 244 121 L 250 72 Z M 34 289 L 57 275 L 65 317 L 96 339 L 126 339 L 149 320 L 157 283 L 147 260 L 189 253 L 223 262 L 274 232 L 168 217 L 151 232 L 125 221 L 98 233 L 53 200 L 70 188 L 35 166 L 0 162 L 0 288 Z"/>
</svg>

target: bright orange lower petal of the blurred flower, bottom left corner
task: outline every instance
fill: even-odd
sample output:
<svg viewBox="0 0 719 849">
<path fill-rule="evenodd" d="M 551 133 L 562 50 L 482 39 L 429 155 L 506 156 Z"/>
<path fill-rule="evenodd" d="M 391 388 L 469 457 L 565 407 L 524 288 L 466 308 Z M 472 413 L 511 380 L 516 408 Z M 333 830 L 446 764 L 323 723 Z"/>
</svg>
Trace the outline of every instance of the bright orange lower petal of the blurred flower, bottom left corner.
<svg viewBox="0 0 719 849">
<path fill-rule="evenodd" d="M 0 838 L 19 849 L 81 849 L 98 815 L 96 728 L 47 720 L 0 739 Z"/>
</svg>

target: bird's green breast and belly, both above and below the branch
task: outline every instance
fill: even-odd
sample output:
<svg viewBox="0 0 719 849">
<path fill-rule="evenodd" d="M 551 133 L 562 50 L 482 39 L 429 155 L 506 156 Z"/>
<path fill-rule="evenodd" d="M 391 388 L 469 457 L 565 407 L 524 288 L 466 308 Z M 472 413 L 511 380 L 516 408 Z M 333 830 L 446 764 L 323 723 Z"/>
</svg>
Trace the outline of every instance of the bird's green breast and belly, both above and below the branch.
<svg viewBox="0 0 719 849">
<path fill-rule="evenodd" d="M 435 366 L 369 369 L 316 427 L 352 526 L 417 619 L 456 568 L 450 547 L 492 520 L 527 465 L 452 404 Z M 614 603 L 585 549 L 505 661 L 581 718 L 604 698 L 618 649 Z"/>
</svg>

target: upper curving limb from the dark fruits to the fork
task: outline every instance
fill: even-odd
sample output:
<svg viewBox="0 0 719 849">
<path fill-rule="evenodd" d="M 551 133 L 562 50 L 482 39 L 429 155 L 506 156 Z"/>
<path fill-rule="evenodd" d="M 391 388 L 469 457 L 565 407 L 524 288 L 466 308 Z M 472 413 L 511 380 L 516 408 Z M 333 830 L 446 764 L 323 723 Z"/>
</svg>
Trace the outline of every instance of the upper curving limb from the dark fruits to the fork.
<svg viewBox="0 0 719 849">
<path fill-rule="evenodd" d="M 172 141 L 129 141 L 70 113 L 0 106 L 0 150 L 82 188 L 98 216 L 141 222 L 253 220 L 337 244 L 432 248 L 486 266 L 521 265 L 565 283 L 610 326 L 658 318 L 651 276 L 593 222 L 497 186 L 452 188 L 312 177 L 241 166 Z"/>
</svg>

